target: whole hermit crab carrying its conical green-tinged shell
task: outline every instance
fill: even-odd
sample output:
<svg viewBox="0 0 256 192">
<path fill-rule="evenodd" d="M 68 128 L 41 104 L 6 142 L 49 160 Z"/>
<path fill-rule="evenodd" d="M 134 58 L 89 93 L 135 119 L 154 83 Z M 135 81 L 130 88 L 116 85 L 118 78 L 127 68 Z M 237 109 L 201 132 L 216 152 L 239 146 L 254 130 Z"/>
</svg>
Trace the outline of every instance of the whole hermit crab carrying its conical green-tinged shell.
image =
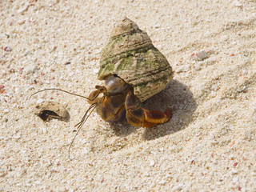
<svg viewBox="0 0 256 192">
<path fill-rule="evenodd" d="M 90 93 L 90 108 L 77 126 L 82 127 L 95 108 L 106 122 L 126 118 L 130 125 L 143 127 L 167 122 L 172 115 L 170 109 L 146 110 L 139 103 L 165 89 L 173 74 L 148 34 L 129 18 L 123 18 L 102 50 L 98 79 L 105 81 L 104 85 L 95 86 Z"/>
</svg>

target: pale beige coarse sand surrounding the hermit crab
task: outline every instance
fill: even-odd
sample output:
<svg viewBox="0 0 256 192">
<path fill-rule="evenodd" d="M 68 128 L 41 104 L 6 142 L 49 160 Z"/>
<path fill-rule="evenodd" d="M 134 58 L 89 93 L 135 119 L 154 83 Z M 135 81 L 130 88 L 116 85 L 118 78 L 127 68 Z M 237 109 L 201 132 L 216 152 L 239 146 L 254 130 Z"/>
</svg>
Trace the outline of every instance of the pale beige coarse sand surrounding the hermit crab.
<svg viewBox="0 0 256 192">
<path fill-rule="evenodd" d="M 256 191 L 255 10 L 254 0 L 1 1 L 0 191 Z M 101 85 L 101 51 L 124 16 L 175 71 L 144 103 L 173 117 L 146 129 L 93 113 L 70 161 L 86 99 L 30 94 Z M 66 105 L 70 121 L 43 122 L 42 101 Z"/>
</svg>

